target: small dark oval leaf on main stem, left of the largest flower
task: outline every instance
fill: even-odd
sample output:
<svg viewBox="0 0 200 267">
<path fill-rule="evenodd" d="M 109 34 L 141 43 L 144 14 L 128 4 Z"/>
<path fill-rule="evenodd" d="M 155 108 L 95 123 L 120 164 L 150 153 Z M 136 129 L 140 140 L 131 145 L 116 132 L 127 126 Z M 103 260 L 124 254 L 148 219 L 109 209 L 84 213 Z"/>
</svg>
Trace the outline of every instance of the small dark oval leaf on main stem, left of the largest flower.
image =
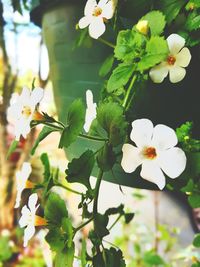
<svg viewBox="0 0 200 267">
<path fill-rule="evenodd" d="M 97 164 L 102 171 L 107 172 L 113 168 L 115 162 L 116 156 L 113 152 L 112 146 L 106 143 L 98 152 Z"/>
</svg>

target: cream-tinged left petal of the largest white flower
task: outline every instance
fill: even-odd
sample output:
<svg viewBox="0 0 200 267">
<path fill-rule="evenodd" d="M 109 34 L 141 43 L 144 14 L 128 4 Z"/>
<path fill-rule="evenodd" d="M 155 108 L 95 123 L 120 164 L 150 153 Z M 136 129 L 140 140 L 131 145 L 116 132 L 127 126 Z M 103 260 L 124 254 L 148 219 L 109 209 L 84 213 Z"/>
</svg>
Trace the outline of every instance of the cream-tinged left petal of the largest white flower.
<svg viewBox="0 0 200 267">
<path fill-rule="evenodd" d="M 142 157 L 140 155 L 140 149 L 130 145 L 124 144 L 122 147 L 123 157 L 121 166 L 127 173 L 134 172 L 136 168 L 142 164 Z"/>
</svg>

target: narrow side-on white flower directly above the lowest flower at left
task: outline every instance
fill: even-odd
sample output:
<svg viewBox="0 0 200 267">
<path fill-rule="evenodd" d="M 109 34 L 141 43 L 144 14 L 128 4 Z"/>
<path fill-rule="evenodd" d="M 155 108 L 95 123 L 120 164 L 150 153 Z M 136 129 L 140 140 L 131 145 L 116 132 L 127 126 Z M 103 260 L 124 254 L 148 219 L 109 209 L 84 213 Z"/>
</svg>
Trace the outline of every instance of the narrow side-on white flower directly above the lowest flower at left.
<svg viewBox="0 0 200 267">
<path fill-rule="evenodd" d="M 17 196 L 15 202 L 15 209 L 19 208 L 22 191 L 25 188 L 33 188 L 33 183 L 28 181 L 31 174 L 32 168 L 29 162 L 24 162 L 20 171 L 16 173 L 16 186 L 17 186 Z"/>
</svg>

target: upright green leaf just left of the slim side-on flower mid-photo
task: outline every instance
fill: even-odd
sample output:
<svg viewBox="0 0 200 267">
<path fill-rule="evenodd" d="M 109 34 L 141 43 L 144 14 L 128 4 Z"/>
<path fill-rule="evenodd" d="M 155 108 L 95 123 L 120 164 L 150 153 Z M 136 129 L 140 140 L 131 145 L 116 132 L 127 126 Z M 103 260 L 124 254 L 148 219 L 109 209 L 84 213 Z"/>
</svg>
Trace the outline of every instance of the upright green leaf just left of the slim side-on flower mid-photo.
<svg viewBox="0 0 200 267">
<path fill-rule="evenodd" d="M 76 141 L 77 136 L 85 123 L 85 106 L 81 99 L 76 99 L 70 105 L 67 117 L 67 126 L 63 130 L 59 148 L 68 147 Z"/>
</svg>

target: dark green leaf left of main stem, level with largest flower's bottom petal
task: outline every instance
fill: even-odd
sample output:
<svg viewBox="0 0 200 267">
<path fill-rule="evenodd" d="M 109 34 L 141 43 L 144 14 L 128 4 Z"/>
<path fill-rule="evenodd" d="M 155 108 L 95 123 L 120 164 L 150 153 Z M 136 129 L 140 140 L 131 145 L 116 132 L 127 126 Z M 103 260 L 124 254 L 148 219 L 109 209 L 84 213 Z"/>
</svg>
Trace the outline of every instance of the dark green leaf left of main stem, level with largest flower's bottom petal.
<svg viewBox="0 0 200 267">
<path fill-rule="evenodd" d="M 69 183 L 81 183 L 90 189 L 89 179 L 94 163 L 94 153 L 91 150 L 87 150 L 79 158 L 73 159 L 66 170 L 67 181 Z"/>
</svg>

